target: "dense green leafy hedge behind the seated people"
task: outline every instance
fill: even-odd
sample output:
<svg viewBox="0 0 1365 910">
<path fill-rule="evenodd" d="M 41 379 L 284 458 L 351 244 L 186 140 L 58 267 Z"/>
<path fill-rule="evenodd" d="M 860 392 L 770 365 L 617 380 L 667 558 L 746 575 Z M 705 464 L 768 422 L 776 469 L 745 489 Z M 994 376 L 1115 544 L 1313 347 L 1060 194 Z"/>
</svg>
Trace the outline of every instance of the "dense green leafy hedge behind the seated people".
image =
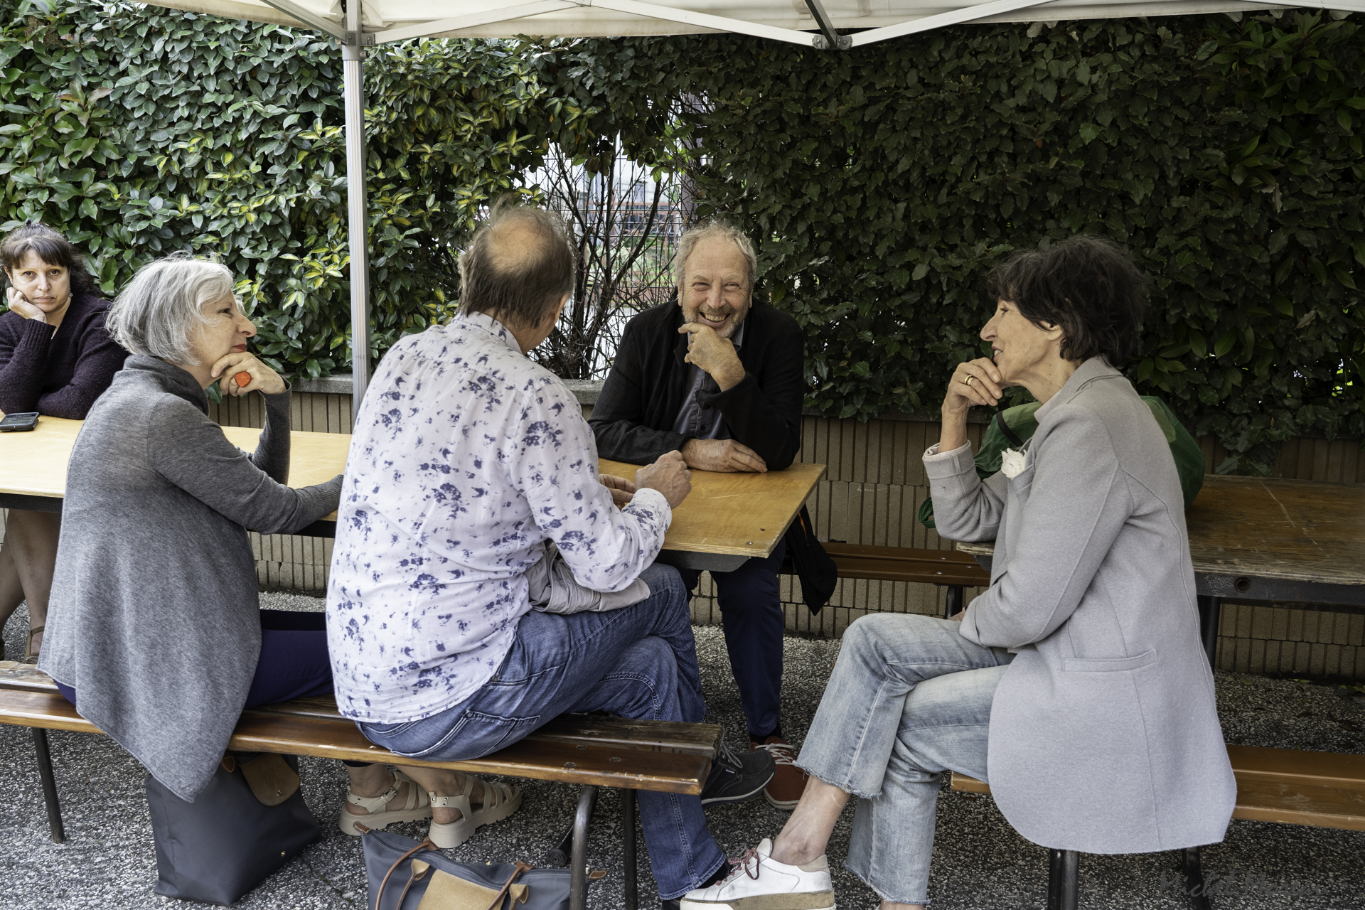
<svg viewBox="0 0 1365 910">
<path fill-rule="evenodd" d="M 340 55 L 126 3 L 4 7 L 0 222 L 41 217 L 106 292 L 172 250 L 240 277 L 262 351 L 349 357 Z M 457 295 L 456 246 L 551 139 L 688 171 L 760 241 L 835 416 L 935 407 L 988 269 L 1103 232 L 1152 277 L 1129 374 L 1254 469 L 1365 437 L 1353 19 L 965 26 L 848 53 L 736 35 L 418 41 L 366 64 L 375 353 Z"/>
</svg>

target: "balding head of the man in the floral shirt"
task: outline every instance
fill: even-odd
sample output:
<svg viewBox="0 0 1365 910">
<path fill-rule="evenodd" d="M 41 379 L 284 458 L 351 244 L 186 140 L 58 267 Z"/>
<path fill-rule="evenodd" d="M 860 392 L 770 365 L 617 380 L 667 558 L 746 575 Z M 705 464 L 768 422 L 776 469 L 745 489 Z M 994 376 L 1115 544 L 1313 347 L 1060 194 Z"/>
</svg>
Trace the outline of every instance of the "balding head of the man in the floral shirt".
<svg viewBox="0 0 1365 910">
<path fill-rule="evenodd" d="M 536 326 L 573 292 L 576 261 L 564 221 L 500 201 L 460 256 L 460 312 Z"/>
</svg>

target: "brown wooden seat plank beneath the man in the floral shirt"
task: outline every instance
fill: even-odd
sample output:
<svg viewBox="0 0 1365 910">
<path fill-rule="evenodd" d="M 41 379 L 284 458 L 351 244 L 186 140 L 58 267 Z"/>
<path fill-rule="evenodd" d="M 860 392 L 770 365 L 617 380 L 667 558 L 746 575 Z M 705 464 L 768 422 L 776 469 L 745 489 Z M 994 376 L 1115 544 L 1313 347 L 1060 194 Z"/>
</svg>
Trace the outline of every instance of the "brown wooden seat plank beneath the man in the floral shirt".
<svg viewBox="0 0 1365 910">
<path fill-rule="evenodd" d="M 592 720 L 607 719 L 592 718 Z M 55 690 L 55 686 L 49 692 L 0 686 L 0 723 L 75 733 L 102 733 L 76 714 L 71 703 Z M 625 726 L 647 729 L 650 722 L 629 722 Z M 696 726 L 707 727 L 708 724 Z M 718 731 L 719 727 L 715 730 Z M 704 730 L 702 735 L 710 737 L 711 733 Z M 322 718 L 266 711 L 243 714 L 228 748 L 242 752 L 281 752 L 349 761 L 415 764 L 474 774 L 689 795 L 702 793 L 702 784 L 711 768 L 711 754 L 663 750 L 632 742 L 575 744 L 568 739 L 550 738 L 521 739 L 506 749 L 474 761 L 422 761 L 396 756 L 388 749 L 371 744 L 352 722 L 344 720 L 340 715 Z"/>
</svg>

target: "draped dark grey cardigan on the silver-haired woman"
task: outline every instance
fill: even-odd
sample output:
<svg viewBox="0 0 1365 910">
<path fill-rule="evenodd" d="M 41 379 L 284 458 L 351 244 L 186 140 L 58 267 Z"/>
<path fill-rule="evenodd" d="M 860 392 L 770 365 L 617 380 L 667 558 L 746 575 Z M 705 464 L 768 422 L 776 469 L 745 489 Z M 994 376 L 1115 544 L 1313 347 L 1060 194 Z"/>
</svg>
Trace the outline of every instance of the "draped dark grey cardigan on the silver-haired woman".
<svg viewBox="0 0 1365 910">
<path fill-rule="evenodd" d="M 266 396 L 247 456 L 194 377 L 136 355 L 90 409 L 67 467 L 38 666 L 157 780 L 192 799 L 213 776 L 261 655 L 247 529 L 298 531 L 340 475 L 292 490 L 289 393 Z"/>
</svg>

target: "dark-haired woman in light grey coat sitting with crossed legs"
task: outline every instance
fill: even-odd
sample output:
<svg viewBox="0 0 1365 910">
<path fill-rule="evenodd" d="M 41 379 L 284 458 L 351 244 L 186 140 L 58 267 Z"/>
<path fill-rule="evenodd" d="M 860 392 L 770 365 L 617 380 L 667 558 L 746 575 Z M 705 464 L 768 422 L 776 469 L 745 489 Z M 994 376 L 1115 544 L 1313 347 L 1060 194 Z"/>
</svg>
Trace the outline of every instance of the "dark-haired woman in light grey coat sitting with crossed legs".
<svg viewBox="0 0 1365 910">
<path fill-rule="evenodd" d="M 1141 276 L 1115 244 L 1072 237 L 991 276 L 992 357 L 960 364 L 924 457 L 939 533 L 995 540 L 991 587 L 954 617 L 849 626 L 799 759 L 811 780 L 775 842 L 684 910 L 763 896 L 822 910 L 824 845 L 849 795 L 848 868 L 883 909 L 927 900 L 942 771 L 991 783 L 1029 840 L 1085 853 L 1222 840 L 1237 787 L 1200 645 L 1179 478 L 1166 437 L 1112 364 L 1137 347 Z M 1009 386 L 1037 431 L 981 482 L 972 405 Z"/>
</svg>

